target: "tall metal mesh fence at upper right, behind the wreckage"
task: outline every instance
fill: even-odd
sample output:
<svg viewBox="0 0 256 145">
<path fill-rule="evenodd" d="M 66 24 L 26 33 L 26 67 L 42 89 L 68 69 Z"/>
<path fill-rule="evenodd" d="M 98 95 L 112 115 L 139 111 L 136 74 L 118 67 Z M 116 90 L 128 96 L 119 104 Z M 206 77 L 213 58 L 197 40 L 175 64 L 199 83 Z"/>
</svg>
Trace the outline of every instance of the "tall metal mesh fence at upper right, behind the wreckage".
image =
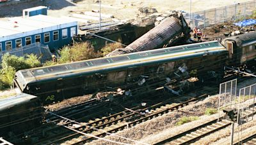
<svg viewBox="0 0 256 145">
<path fill-rule="evenodd" d="M 246 3 L 237 3 L 230 6 L 223 6 L 205 11 L 197 11 L 186 15 L 186 21 L 191 27 L 205 28 L 209 25 L 219 24 L 230 20 L 239 20 L 241 18 L 253 15 L 256 7 L 256 0 Z"/>
</svg>

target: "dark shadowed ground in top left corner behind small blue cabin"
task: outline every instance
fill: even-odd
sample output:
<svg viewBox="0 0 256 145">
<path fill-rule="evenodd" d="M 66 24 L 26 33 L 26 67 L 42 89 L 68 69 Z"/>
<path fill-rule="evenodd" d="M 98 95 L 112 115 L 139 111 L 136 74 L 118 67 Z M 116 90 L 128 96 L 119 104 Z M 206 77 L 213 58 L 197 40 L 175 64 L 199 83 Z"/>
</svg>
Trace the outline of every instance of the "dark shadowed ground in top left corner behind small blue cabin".
<svg viewBox="0 0 256 145">
<path fill-rule="evenodd" d="M 75 6 L 68 0 L 33 0 L 7 6 L 1 6 L 0 17 L 18 17 L 22 16 L 22 10 L 35 6 L 48 6 L 51 10 L 60 10 L 67 6 Z"/>
</svg>

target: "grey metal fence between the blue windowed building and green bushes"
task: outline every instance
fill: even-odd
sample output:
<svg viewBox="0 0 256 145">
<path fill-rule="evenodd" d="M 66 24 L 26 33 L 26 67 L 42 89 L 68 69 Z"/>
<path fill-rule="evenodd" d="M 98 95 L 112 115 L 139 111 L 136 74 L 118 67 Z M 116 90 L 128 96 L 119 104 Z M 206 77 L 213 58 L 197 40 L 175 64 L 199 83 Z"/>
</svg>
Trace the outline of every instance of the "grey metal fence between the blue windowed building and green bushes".
<svg viewBox="0 0 256 145">
<path fill-rule="evenodd" d="M 5 53 L 10 53 L 10 55 L 16 55 L 17 57 L 24 57 L 27 54 L 29 55 L 33 53 L 40 59 L 40 62 L 51 60 L 52 55 L 49 47 L 40 43 L 33 43 L 31 45 L 22 46 L 10 51 L 0 52 L 0 63 L 2 62 L 2 58 Z"/>
</svg>

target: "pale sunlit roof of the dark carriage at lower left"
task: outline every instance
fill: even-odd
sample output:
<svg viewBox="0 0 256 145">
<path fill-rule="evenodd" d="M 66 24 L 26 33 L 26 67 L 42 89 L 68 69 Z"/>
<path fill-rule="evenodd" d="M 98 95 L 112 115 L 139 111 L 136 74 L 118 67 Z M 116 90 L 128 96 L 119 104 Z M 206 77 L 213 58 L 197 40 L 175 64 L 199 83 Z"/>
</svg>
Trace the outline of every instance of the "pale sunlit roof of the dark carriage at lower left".
<svg viewBox="0 0 256 145">
<path fill-rule="evenodd" d="M 27 93 L 20 93 L 18 95 L 14 95 L 12 97 L 8 97 L 5 99 L 0 99 L 0 111 L 4 109 L 9 109 L 14 106 L 25 104 L 26 102 L 30 102 L 33 99 L 36 99 L 35 95 L 29 95 Z"/>
</svg>

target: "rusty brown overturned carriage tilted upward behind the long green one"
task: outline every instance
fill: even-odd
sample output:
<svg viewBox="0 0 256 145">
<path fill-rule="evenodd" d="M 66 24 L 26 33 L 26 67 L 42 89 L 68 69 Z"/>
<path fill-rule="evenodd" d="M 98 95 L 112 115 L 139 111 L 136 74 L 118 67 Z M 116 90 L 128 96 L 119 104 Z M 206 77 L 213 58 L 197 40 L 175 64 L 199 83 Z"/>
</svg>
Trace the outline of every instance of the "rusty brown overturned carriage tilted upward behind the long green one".
<svg viewBox="0 0 256 145">
<path fill-rule="evenodd" d="M 117 49 L 109 53 L 108 56 L 152 50 L 162 48 L 163 45 L 172 46 L 182 39 L 186 41 L 189 37 L 189 31 L 182 13 L 176 12 L 130 45 Z"/>
</svg>

